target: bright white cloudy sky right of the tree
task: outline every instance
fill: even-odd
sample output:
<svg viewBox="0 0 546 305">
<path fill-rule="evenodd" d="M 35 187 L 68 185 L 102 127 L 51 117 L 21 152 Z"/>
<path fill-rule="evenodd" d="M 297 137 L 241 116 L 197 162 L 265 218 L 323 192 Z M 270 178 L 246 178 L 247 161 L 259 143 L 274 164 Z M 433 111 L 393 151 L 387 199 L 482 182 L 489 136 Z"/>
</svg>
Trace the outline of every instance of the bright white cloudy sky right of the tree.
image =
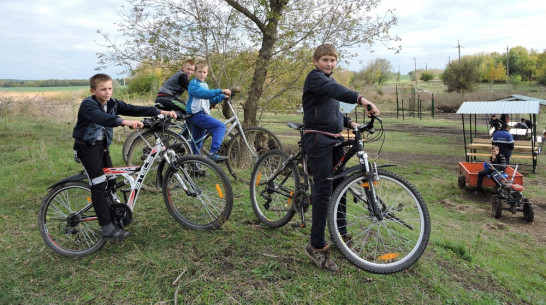
<svg viewBox="0 0 546 305">
<path fill-rule="evenodd" d="M 445 68 L 450 59 L 476 53 L 505 53 L 506 47 L 523 46 L 542 52 L 546 49 L 546 3 L 542 0 L 474 1 L 382 1 L 377 13 L 396 9 L 398 25 L 391 33 L 402 38 L 399 54 L 375 47 L 351 61 L 350 69 L 360 70 L 369 60 L 388 59 L 394 70 L 406 74 L 417 68 Z M 358 60 L 363 64 L 358 64 Z"/>
</svg>

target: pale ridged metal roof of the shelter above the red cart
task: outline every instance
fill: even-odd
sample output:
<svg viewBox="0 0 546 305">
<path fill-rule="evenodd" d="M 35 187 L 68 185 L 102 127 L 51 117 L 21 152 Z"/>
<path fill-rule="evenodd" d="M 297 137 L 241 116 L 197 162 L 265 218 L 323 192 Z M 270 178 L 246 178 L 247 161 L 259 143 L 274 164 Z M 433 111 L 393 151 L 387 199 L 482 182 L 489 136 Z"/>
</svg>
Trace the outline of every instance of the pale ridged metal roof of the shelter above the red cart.
<svg viewBox="0 0 546 305">
<path fill-rule="evenodd" d="M 545 101 L 546 102 L 546 101 Z M 457 114 L 491 114 L 491 113 L 514 113 L 514 114 L 538 114 L 540 103 L 535 101 L 494 101 L 494 102 L 464 102 L 457 110 Z"/>
</svg>

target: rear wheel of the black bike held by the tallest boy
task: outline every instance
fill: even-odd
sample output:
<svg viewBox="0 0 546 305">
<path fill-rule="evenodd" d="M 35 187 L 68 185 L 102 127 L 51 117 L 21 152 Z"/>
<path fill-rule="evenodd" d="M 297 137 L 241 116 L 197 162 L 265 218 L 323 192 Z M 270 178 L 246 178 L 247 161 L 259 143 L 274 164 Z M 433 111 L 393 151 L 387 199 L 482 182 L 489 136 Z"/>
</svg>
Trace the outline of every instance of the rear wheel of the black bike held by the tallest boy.
<svg viewBox="0 0 546 305">
<path fill-rule="evenodd" d="M 287 224 L 296 213 L 293 196 L 300 188 L 298 167 L 289 163 L 280 167 L 289 156 L 282 150 L 270 150 L 263 154 L 250 178 L 250 202 L 258 220 L 271 228 Z M 283 172 L 273 178 L 279 170 Z"/>
</svg>

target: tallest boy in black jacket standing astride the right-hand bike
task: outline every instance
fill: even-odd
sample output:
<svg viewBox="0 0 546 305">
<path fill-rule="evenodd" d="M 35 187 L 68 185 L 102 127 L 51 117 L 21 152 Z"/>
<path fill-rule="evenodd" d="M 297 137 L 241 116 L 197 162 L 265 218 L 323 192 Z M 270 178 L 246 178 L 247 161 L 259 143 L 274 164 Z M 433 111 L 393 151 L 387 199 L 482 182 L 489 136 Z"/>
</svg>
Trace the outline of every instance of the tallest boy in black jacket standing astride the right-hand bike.
<svg viewBox="0 0 546 305">
<path fill-rule="evenodd" d="M 304 251 L 319 268 L 328 271 L 339 271 L 339 267 L 330 259 L 330 249 L 325 239 L 328 202 L 333 188 L 341 182 L 328 180 L 332 177 L 334 165 L 343 156 L 343 149 L 335 145 L 343 141 L 340 135 L 343 127 L 353 128 L 359 125 L 343 116 L 339 111 L 339 101 L 359 104 L 365 109 L 371 106 L 371 110 L 366 109 L 368 116 L 379 116 L 379 110 L 373 103 L 358 92 L 338 84 L 331 77 L 337 64 L 337 56 L 337 50 L 331 44 L 323 44 L 315 49 L 313 63 L 316 69 L 307 75 L 302 97 L 305 124 L 303 148 L 307 152 L 308 165 L 313 173 L 313 222 L 311 239 L 305 245 Z M 342 237 L 350 245 L 351 236 L 344 234 Z"/>
</svg>

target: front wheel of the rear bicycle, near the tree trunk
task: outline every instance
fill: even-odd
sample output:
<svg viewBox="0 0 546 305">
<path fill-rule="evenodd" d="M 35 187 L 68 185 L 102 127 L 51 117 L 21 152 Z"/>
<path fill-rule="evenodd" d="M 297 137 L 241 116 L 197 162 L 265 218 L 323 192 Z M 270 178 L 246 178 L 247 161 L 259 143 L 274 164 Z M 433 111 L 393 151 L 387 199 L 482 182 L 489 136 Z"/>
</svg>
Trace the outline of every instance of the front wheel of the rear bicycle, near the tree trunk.
<svg viewBox="0 0 546 305">
<path fill-rule="evenodd" d="M 282 149 L 282 144 L 275 134 L 263 127 L 247 127 L 243 129 L 243 133 L 256 156 L 248 151 L 241 133 L 238 132 L 228 143 L 226 163 L 233 178 L 250 184 L 250 175 L 258 158 L 272 149 Z"/>
</svg>

